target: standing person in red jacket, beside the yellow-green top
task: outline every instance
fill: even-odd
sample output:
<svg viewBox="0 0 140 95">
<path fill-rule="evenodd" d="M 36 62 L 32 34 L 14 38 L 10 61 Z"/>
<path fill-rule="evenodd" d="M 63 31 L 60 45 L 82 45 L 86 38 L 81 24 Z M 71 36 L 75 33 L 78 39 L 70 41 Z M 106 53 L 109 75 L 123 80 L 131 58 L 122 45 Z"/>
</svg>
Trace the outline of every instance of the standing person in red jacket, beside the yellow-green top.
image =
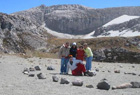
<svg viewBox="0 0 140 95">
<path fill-rule="evenodd" d="M 77 60 L 84 60 L 85 57 L 85 51 L 83 50 L 83 46 L 79 46 L 79 48 L 77 49 L 77 55 L 76 55 L 76 59 Z"/>
</svg>

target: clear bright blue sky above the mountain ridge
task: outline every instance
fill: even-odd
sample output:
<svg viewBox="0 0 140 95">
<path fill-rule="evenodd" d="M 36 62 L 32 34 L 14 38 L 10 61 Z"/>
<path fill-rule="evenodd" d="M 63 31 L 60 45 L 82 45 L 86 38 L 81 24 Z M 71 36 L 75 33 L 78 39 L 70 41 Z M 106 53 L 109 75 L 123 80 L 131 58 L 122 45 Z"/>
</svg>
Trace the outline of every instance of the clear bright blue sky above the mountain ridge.
<svg viewBox="0 0 140 95">
<path fill-rule="evenodd" d="M 40 5 L 79 4 L 91 8 L 140 6 L 140 0 L 0 0 L 0 12 L 14 13 Z"/>
</svg>

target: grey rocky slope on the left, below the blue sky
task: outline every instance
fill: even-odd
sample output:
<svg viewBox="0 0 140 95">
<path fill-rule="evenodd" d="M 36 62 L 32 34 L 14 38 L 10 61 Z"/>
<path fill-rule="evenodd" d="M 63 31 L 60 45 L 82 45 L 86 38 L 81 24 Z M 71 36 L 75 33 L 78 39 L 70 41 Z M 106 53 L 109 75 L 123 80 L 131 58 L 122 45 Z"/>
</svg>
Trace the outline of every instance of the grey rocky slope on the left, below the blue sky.
<svg viewBox="0 0 140 95">
<path fill-rule="evenodd" d="M 46 49 L 49 38 L 37 23 L 17 15 L 0 13 L 0 51 L 25 52 L 26 49 Z M 51 37 L 51 36 L 50 36 Z"/>
</svg>

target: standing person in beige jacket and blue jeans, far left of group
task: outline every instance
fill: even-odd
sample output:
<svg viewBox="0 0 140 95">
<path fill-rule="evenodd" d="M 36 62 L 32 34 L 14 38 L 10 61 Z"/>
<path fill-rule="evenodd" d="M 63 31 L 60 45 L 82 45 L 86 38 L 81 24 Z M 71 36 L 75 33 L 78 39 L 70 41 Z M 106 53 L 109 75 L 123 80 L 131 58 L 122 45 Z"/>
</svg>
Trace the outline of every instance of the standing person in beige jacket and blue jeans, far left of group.
<svg viewBox="0 0 140 95">
<path fill-rule="evenodd" d="M 70 54 L 70 46 L 69 42 L 66 42 L 61 46 L 59 50 L 59 58 L 61 58 L 61 68 L 60 68 L 60 74 L 66 74 L 67 69 L 67 63 L 69 61 L 69 54 Z"/>
</svg>

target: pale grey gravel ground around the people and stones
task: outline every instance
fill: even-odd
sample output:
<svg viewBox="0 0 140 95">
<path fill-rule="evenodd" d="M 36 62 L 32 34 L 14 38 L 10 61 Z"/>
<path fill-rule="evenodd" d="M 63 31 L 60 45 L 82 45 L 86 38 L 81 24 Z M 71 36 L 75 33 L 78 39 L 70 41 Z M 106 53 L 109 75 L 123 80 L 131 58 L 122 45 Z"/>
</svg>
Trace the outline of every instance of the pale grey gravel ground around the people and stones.
<svg viewBox="0 0 140 95">
<path fill-rule="evenodd" d="M 84 62 L 85 63 L 85 62 Z M 41 71 L 30 72 L 35 77 L 28 77 L 22 73 L 24 68 L 40 66 Z M 47 66 L 53 66 L 54 71 L 48 71 Z M 99 90 L 96 85 L 106 78 L 111 87 L 126 82 L 140 82 L 140 65 L 123 63 L 98 63 L 93 62 L 92 69 L 99 69 L 96 76 L 71 76 L 60 75 L 60 60 L 48 58 L 21 58 L 12 55 L 1 55 L 0 57 L 0 95 L 140 95 L 140 88 L 128 88 L 119 90 Z M 110 70 L 111 72 L 108 72 Z M 120 73 L 114 73 L 120 70 Z M 36 74 L 44 73 L 46 79 L 38 79 Z M 133 72 L 137 75 L 126 75 L 124 72 Z M 53 82 L 52 76 L 67 78 L 70 81 L 81 79 L 84 81 L 82 87 L 72 84 L 60 84 Z M 86 88 L 92 84 L 94 88 Z"/>
</svg>

